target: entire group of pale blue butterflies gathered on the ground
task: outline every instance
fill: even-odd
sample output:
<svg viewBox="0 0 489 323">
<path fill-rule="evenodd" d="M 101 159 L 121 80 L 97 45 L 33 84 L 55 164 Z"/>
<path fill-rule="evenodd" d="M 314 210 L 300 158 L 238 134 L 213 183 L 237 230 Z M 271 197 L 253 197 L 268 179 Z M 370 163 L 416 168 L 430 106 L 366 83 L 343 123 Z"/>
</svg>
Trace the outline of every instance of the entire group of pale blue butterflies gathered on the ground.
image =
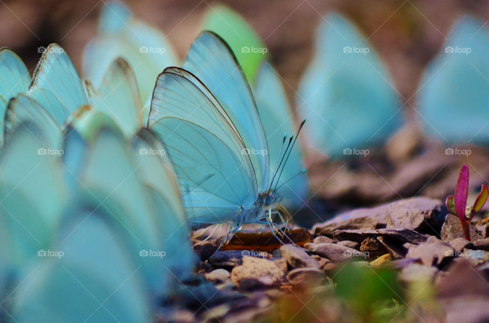
<svg viewBox="0 0 489 323">
<path fill-rule="evenodd" d="M 306 139 L 338 158 L 391 135 L 401 105 L 363 36 L 338 15 L 326 19 L 297 108 Z M 453 52 L 420 88 L 426 129 L 447 140 L 488 139 L 447 127 L 484 126 L 489 39 L 480 25 L 455 25 Z M 225 7 L 205 29 L 229 45 L 203 32 L 181 63 L 165 36 L 108 4 L 85 52 L 85 82 L 56 44 L 32 77 L 0 50 L 2 320 L 151 321 L 191 275 L 191 228 L 276 230 L 284 207 L 305 203 L 294 135 L 304 123 L 294 125 L 266 48 Z"/>
</svg>

